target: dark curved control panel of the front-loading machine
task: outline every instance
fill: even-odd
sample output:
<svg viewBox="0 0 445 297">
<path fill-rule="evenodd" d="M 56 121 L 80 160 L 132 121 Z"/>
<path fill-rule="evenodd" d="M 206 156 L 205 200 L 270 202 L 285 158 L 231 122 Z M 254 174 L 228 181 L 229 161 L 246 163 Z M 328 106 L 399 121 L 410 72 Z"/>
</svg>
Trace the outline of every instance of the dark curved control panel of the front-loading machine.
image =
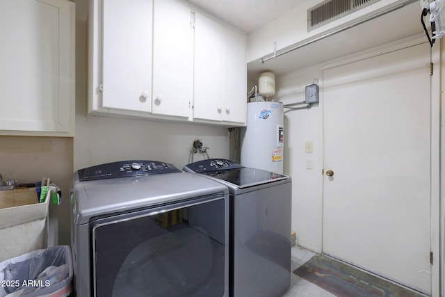
<svg viewBox="0 0 445 297">
<path fill-rule="evenodd" d="M 170 163 L 146 160 L 131 160 L 106 163 L 78 171 L 79 181 L 110 179 L 117 177 L 135 177 L 139 175 L 157 175 L 181 172 Z"/>
</svg>

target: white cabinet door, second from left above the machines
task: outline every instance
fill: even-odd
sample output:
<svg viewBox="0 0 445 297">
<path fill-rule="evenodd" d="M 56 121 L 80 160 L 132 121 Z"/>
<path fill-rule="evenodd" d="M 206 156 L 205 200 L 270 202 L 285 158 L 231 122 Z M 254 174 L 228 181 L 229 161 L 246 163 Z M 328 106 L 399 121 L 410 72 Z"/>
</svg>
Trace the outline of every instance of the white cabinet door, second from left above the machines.
<svg viewBox="0 0 445 297">
<path fill-rule="evenodd" d="M 193 95 L 191 10 L 177 0 L 154 1 L 152 113 L 189 116 Z"/>
</svg>

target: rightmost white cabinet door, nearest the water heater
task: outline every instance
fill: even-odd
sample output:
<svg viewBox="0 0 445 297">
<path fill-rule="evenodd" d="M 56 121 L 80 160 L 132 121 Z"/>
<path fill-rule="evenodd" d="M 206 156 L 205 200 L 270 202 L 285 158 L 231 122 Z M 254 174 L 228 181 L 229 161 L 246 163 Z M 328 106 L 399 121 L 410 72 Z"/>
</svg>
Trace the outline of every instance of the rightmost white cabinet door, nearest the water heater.
<svg viewBox="0 0 445 297">
<path fill-rule="evenodd" d="M 245 36 L 225 30 L 223 120 L 245 123 L 247 104 L 247 64 Z"/>
</svg>

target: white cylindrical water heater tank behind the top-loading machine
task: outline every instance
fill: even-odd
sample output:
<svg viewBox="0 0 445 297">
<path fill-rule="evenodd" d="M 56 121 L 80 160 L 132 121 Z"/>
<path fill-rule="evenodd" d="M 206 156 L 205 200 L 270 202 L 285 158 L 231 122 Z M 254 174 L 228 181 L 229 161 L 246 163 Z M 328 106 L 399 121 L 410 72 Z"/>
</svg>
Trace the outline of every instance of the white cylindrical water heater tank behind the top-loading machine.
<svg viewBox="0 0 445 297">
<path fill-rule="evenodd" d="M 281 102 L 248 103 L 241 129 L 241 165 L 283 173 L 284 113 Z"/>
</svg>

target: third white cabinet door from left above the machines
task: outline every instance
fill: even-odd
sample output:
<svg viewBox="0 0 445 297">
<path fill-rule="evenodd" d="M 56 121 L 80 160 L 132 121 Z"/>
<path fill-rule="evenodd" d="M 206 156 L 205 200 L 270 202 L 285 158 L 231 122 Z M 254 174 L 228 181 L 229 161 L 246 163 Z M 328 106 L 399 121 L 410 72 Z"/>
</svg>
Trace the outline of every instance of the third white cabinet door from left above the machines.
<svg viewBox="0 0 445 297">
<path fill-rule="evenodd" d="M 222 35 L 223 26 L 200 13 L 195 13 L 193 118 L 222 120 L 224 90 Z"/>
</svg>

